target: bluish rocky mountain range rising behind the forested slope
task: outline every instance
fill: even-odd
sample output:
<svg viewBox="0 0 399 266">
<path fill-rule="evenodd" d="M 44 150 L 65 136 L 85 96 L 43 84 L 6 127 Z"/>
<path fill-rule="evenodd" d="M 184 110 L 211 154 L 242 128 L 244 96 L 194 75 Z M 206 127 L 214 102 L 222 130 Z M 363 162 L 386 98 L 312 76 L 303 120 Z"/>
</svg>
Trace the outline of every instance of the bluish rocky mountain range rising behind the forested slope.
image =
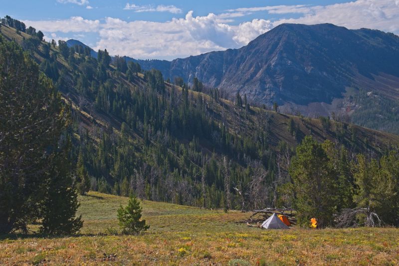
<svg viewBox="0 0 399 266">
<path fill-rule="evenodd" d="M 399 37 L 379 30 L 281 24 L 239 49 L 173 61 L 126 59 L 159 69 L 165 78 L 192 83 L 197 77 L 230 96 L 239 92 L 252 102 L 277 102 L 307 115 L 359 108 L 346 98 L 348 88 L 399 98 Z"/>
</svg>

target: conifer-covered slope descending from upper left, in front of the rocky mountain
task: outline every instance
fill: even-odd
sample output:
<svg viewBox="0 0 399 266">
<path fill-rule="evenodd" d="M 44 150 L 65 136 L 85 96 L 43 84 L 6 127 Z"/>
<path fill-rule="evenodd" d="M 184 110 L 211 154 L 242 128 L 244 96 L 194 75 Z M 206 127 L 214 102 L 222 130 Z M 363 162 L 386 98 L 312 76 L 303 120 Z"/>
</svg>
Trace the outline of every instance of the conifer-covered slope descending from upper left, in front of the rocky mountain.
<svg viewBox="0 0 399 266">
<path fill-rule="evenodd" d="M 346 147 L 348 156 L 375 157 L 399 143 L 396 135 L 326 117 L 251 107 L 245 97 L 233 103 L 217 89 L 193 91 L 106 51 L 96 59 L 80 45 L 50 44 L 5 25 L 0 32 L 40 64 L 73 109 L 70 156 L 84 165 L 92 190 L 252 209 L 277 204 L 305 135 Z"/>
</svg>

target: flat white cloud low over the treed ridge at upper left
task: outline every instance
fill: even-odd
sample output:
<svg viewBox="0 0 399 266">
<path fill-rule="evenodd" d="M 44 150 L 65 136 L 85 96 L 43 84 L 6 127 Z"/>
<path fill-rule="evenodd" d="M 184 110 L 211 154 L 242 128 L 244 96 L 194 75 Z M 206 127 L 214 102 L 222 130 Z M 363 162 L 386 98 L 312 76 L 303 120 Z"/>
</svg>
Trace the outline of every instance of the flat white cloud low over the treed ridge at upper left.
<svg viewBox="0 0 399 266">
<path fill-rule="evenodd" d="M 81 16 L 72 16 L 62 20 L 24 20 L 26 25 L 33 26 L 46 32 L 96 32 L 100 26 L 100 20 L 84 19 Z"/>
</svg>

